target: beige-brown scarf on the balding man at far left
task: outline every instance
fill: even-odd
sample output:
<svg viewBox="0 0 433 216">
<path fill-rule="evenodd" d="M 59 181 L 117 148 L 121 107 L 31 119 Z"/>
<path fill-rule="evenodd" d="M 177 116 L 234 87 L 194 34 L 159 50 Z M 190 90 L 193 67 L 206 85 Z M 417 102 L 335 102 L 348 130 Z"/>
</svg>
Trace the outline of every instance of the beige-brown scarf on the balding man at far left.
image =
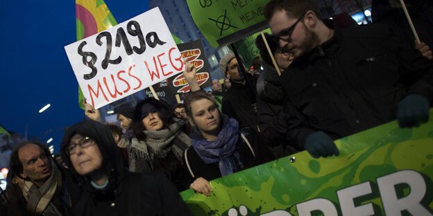
<svg viewBox="0 0 433 216">
<path fill-rule="evenodd" d="M 56 191 L 62 188 L 62 173 L 58 170 L 53 160 L 51 161 L 51 177 L 39 188 L 32 182 L 19 177 L 14 177 L 13 183 L 17 183 L 22 189 L 27 201 L 27 210 L 36 215 L 62 215 L 66 213 L 64 203 L 56 199 L 53 201 Z"/>
</svg>

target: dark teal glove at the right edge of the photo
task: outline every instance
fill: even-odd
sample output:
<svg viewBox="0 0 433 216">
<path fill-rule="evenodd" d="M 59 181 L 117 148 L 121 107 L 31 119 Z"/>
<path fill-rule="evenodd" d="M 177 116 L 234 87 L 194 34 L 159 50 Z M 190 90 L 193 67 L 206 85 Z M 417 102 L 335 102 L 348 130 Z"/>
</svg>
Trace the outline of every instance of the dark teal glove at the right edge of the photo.
<svg viewBox="0 0 433 216">
<path fill-rule="evenodd" d="M 418 127 L 429 118 L 430 102 L 418 93 L 411 93 L 398 103 L 397 120 L 400 127 Z"/>
</svg>

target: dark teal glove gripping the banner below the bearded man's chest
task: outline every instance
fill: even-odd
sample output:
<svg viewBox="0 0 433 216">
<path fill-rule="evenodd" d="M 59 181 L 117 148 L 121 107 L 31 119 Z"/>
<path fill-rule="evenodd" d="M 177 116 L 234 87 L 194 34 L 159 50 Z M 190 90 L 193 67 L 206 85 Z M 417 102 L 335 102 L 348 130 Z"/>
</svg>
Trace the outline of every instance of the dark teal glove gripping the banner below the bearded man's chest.
<svg viewBox="0 0 433 216">
<path fill-rule="evenodd" d="M 332 138 L 324 132 L 314 132 L 305 139 L 305 150 L 315 159 L 340 154 Z"/>
</svg>

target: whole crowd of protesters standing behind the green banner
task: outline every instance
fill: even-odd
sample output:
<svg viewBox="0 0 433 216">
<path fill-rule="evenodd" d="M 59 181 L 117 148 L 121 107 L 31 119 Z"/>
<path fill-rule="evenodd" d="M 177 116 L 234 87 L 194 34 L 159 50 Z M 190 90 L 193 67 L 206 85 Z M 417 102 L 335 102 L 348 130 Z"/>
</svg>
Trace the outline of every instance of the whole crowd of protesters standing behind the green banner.
<svg viewBox="0 0 433 216">
<path fill-rule="evenodd" d="M 117 111 L 120 127 L 101 123 L 99 111 L 85 103 L 88 120 L 65 132 L 61 163 L 37 141 L 17 146 L 1 210 L 190 215 L 182 190 L 208 197 L 213 179 L 303 150 L 314 158 L 339 155 L 338 138 L 392 120 L 400 127 L 428 120 L 433 62 L 427 44 L 399 37 L 389 22 L 323 20 L 312 0 L 273 0 L 264 15 L 272 35 L 257 37 L 262 62 L 255 60 L 251 73 L 229 53 L 219 63 L 228 81 L 216 80 L 207 93 L 195 66 L 185 62 L 192 92 L 183 103 L 146 98 Z M 431 33 L 421 35 L 432 41 Z"/>
</svg>

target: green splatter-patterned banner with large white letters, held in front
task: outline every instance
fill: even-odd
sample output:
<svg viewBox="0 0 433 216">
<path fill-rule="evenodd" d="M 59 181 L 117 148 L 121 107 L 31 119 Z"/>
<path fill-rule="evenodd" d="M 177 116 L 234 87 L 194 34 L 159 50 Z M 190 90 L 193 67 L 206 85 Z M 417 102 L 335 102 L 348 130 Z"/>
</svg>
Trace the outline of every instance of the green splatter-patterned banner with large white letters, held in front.
<svg viewBox="0 0 433 216">
<path fill-rule="evenodd" d="M 300 152 L 181 193 L 194 215 L 433 215 L 430 121 L 396 121 L 335 141 L 340 156 Z"/>
</svg>

